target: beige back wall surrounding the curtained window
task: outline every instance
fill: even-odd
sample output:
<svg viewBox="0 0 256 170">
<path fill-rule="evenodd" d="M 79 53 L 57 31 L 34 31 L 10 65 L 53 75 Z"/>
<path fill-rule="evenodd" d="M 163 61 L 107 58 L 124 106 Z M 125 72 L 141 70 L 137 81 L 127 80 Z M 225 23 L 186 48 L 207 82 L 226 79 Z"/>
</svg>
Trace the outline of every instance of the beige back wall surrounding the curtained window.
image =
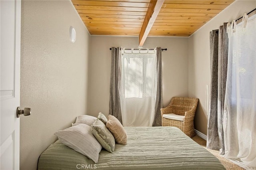
<svg viewBox="0 0 256 170">
<path fill-rule="evenodd" d="M 110 47 L 138 48 L 138 37 L 91 36 L 88 80 L 88 114 L 108 115 Z M 164 106 L 174 96 L 188 96 L 188 38 L 148 37 L 144 48 L 162 47 Z"/>
</svg>

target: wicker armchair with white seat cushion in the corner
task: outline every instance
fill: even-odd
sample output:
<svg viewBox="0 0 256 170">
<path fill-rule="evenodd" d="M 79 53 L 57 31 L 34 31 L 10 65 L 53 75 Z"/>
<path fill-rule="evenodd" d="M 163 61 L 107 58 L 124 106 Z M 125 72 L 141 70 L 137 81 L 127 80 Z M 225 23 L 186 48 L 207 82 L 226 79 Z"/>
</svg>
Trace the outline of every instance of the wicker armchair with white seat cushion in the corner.
<svg viewBox="0 0 256 170">
<path fill-rule="evenodd" d="M 167 107 L 161 109 L 162 126 L 178 127 L 182 132 L 192 138 L 195 136 L 194 116 L 197 104 L 197 98 L 172 97 L 171 103 Z M 163 115 L 167 118 L 164 118 Z M 178 117 L 179 120 L 177 120 L 176 117 Z"/>
</svg>

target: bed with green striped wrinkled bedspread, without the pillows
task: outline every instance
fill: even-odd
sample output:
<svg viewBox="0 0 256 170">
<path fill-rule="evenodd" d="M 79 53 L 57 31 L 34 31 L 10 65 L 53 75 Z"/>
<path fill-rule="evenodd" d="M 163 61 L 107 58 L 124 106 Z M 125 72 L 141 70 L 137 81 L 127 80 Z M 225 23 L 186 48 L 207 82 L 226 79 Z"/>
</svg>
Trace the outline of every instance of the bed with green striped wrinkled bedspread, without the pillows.
<svg viewBox="0 0 256 170">
<path fill-rule="evenodd" d="M 125 130 L 127 144 L 116 144 L 114 153 L 102 149 L 96 164 L 57 140 L 41 154 L 38 170 L 225 169 L 214 155 L 176 127 L 125 127 Z"/>
</svg>

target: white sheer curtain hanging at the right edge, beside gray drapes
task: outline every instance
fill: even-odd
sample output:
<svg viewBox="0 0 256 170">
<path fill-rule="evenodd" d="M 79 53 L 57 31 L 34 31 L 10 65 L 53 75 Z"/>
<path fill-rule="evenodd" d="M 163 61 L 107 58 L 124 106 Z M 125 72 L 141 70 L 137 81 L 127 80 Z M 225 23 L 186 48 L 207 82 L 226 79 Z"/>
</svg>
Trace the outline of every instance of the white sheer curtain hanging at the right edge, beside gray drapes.
<svg viewBox="0 0 256 170">
<path fill-rule="evenodd" d="M 228 26 L 225 158 L 256 169 L 256 15 Z M 247 20 L 247 22 L 246 22 Z M 234 28 L 233 28 L 234 26 Z"/>
</svg>

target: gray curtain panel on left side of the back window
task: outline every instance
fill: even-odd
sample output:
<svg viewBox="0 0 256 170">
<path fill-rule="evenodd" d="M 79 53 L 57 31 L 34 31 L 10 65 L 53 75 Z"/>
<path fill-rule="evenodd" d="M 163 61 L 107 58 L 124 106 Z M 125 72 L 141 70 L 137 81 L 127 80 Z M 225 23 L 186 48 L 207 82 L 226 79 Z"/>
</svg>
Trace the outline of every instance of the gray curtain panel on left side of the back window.
<svg viewBox="0 0 256 170">
<path fill-rule="evenodd" d="M 111 57 L 111 77 L 110 77 L 110 97 L 109 114 L 116 117 L 122 123 L 121 105 L 120 105 L 120 78 L 121 61 L 119 60 L 120 47 L 112 47 Z"/>
</svg>

